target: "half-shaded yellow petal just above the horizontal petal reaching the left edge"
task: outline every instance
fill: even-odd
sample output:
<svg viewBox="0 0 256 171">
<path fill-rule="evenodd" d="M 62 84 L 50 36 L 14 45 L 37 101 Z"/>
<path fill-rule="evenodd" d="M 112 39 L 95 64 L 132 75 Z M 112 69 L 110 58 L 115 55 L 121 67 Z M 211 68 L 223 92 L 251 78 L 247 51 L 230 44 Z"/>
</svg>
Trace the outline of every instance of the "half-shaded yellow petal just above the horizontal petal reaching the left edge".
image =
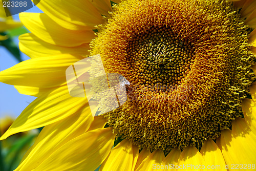
<svg viewBox="0 0 256 171">
<path fill-rule="evenodd" d="M 46 57 L 58 54 L 74 54 L 86 56 L 89 55 L 89 44 L 83 44 L 77 47 L 61 47 L 49 44 L 32 33 L 26 33 L 19 36 L 19 49 L 30 58 Z"/>
</svg>

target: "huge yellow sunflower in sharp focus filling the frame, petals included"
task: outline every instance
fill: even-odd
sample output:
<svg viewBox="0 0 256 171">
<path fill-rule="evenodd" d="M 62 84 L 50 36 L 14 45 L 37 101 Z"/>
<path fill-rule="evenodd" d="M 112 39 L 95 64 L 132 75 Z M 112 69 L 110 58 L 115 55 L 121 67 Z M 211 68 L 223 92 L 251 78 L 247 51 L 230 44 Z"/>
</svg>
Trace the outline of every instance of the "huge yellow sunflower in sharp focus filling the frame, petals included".
<svg viewBox="0 0 256 171">
<path fill-rule="evenodd" d="M 255 1 L 37 6 L 44 13 L 20 14 L 31 59 L 0 72 L 37 97 L 1 139 L 45 126 L 16 170 L 255 170 Z M 65 74 L 97 54 L 130 85 L 119 108 L 93 117 Z"/>
</svg>

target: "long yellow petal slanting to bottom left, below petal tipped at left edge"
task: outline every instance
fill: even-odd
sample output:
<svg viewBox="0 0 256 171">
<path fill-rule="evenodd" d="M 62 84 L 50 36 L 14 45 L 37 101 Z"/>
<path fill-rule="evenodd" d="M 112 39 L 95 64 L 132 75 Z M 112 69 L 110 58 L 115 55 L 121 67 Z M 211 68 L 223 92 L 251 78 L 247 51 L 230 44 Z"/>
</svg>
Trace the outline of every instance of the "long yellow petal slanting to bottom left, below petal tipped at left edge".
<svg viewBox="0 0 256 171">
<path fill-rule="evenodd" d="M 59 147 L 84 134 L 92 121 L 90 107 L 87 105 L 75 115 L 45 126 L 16 170 L 33 170 Z"/>
</svg>

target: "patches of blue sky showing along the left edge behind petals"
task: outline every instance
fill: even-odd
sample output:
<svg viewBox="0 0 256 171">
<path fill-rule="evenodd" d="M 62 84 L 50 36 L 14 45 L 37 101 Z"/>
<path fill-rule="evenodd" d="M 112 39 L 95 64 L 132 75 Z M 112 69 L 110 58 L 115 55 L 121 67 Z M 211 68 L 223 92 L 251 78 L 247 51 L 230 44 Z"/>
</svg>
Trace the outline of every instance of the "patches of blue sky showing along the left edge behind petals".
<svg viewBox="0 0 256 171">
<path fill-rule="evenodd" d="M 41 12 L 37 7 L 33 7 L 26 12 Z M 19 19 L 18 14 L 13 16 Z M 15 38 L 18 45 L 18 37 Z M 29 57 L 22 53 L 23 60 Z M 3 47 L 0 47 L 0 71 L 16 65 L 17 60 Z M 35 97 L 19 94 L 14 86 L 0 82 L 0 117 L 10 115 L 16 118 L 31 103 Z"/>
</svg>

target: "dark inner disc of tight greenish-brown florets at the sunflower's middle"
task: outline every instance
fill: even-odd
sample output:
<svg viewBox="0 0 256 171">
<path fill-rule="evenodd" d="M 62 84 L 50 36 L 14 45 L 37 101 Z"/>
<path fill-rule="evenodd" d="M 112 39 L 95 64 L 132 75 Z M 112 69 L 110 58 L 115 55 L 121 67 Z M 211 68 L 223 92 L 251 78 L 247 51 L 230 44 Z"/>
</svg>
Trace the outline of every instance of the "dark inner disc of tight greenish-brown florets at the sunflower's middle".
<svg viewBox="0 0 256 171">
<path fill-rule="evenodd" d="M 130 63 L 134 63 L 134 70 L 140 73 L 132 76 L 136 77 L 133 83 L 146 87 L 156 83 L 177 87 L 190 70 L 195 55 L 193 52 L 187 40 L 174 34 L 168 26 L 153 27 L 139 34 L 129 41 L 127 47 Z"/>
</svg>

